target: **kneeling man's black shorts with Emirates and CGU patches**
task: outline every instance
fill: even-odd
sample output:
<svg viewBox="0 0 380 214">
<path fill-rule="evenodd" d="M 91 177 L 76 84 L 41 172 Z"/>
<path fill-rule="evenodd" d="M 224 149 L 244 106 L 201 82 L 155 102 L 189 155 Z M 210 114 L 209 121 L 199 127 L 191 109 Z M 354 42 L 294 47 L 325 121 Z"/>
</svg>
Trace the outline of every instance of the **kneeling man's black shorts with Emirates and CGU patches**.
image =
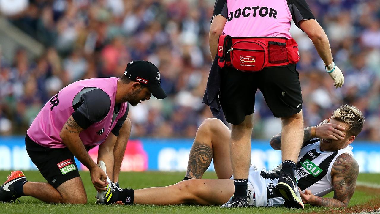
<svg viewBox="0 0 380 214">
<path fill-rule="evenodd" d="M 42 176 L 54 188 L 74 177 L 79 177 L 74 155 L 69 149 L 43 147 L 32 141 L 28 135 L 25 136 L 25 147 Z"/>
</svg>

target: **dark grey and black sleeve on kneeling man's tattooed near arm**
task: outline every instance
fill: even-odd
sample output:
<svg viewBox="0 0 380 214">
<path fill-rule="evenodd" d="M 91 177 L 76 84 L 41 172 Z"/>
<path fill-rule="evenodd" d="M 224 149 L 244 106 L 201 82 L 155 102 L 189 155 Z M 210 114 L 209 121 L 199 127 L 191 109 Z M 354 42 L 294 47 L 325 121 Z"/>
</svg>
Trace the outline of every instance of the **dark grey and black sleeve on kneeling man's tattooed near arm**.
<svg viewBox="0 0 380 214">
<path fill-rule="evenodd" d="M 78 105 L 78 104 L 75 104 Z M 84 129 L 103 120 L 111 108 L 111 99 L 101 89 L 88 91 L 79 99 L 79 107 L 74 109 L 73 118 Z"/>
</svg>

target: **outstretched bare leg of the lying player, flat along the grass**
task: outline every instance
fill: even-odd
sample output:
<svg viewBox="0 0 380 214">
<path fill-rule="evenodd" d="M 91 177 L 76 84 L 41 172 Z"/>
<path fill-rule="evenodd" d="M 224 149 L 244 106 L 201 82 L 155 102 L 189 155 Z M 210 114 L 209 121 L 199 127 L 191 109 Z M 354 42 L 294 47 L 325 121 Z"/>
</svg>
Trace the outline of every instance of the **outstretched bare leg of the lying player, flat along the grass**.
<svg viewBox="0 0 380 214">
<path fill-rule="evenodd" d="M 134 204 L 224 204 L 234 193 L 230 179 L 190 179 L 167 187 L 135 190 Z"/>
</svg>

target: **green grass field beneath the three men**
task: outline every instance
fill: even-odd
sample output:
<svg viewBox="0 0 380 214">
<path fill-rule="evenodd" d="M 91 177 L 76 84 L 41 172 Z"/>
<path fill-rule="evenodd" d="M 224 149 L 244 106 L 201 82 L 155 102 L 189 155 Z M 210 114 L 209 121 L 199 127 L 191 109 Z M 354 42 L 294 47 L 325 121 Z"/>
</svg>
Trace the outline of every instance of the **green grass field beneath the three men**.
<svg viewBox="0 0 380 214">
<path fill-rule="evenodd" d="M 8 171 L 0 171 L 0 182 L 6 180 Z M 25 176 L 30 181 L 44 182 L 44 178 L 38 171 L 24 171 Z M 145 188 L 153 186 L 166 186 L 171 185 L 184 177 L 184 172 L 122 172 L 120 174 L 120 185 L 131 188 Z M 90 180 L 89 172 L 81 172 L 82 180 L 86 188 L 88 203 L 86 205 L 63 205 L 63 204 L 46 204 L 32 197 L 20 198 L 20 203 L 0 203 L 0 213 L 97 213 L 97 214 L 115 214 L 115 213 L 360 213 L 361 211 L 373 211 L 374 213 L 380 211 L 380 174 L 359 174 L 359 184 L 356 188 L 348 208 L 317 208 L 306 205 L 305 209 L 287 209 L 287 208 L 240 208 L 234 209 L 220 209 L 218 206 L 193 206 L 193 205 L 180 205 L 180 206 L 147 206 L 147 205 L 133 205 L 133 206 L 114 206 L 114 205 L 101 205 L 95 204 L 96 191 Z M 216 178 L 215 173 L 209 172 L 203 178 Z M 327 195 L 332 197 L 332 193 Z"/>
</svg>

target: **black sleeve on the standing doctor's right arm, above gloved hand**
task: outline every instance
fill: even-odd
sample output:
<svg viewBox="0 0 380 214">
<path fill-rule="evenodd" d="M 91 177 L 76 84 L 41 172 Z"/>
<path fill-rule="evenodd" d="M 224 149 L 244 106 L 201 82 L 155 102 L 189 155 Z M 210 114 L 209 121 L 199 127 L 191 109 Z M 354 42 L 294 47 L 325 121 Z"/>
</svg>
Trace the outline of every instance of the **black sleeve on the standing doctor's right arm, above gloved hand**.
<svg viewBox="0 0 380 214">
<path fill-rule="evenodd" d="M 287 1 L 288 1 L 291 17 L 298 28 L 300 28 L 298 25 L 298 22 L 300 22 L 301 20 L 315 19 L 306 0 L 287 0 Z"/>
</svg>

